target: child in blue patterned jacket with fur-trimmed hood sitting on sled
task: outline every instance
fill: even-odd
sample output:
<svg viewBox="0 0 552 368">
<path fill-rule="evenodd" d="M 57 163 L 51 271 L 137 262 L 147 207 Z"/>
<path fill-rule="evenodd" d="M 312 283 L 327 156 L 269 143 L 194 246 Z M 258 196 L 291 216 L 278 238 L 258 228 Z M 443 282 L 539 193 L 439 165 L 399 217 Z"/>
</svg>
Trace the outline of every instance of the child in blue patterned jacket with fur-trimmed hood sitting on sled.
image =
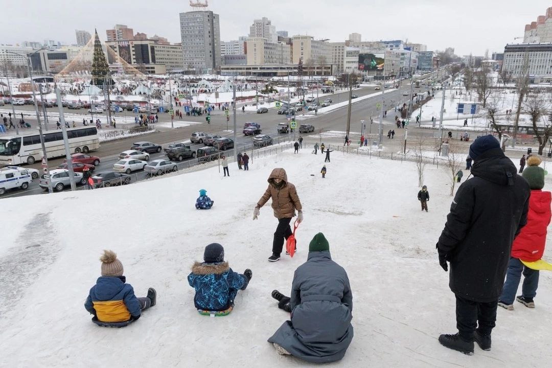
<svg viewBox="0 0 552 368">
<path fill-rule="evenodd" d="M 194 305 L 200 314 L 224 316 L 232 311 L 238 290 L 245 290 L 253 277 L 250 269 L 238 274 L 224 261 L 219 243 L 205 247 L 203 263 L 195 262 L 188 283 L 195 289 Z"/>
</svg>

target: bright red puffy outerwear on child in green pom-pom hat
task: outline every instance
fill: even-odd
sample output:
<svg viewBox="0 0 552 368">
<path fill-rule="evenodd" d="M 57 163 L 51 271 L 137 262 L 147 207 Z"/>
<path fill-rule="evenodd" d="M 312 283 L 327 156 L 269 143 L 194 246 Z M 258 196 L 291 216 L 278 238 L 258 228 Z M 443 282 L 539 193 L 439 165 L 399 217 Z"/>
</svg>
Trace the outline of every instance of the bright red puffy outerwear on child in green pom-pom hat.
<svg viewBox="0 0 552 368">
<path fill-rule="evenodd" d="M 512 257 L 534 262 L 543 257 L 546 244 L 546 228 L 550 223 L 549 191 L 534 189 L 529 197 L 527 225 L 519 232 L 512 244 Z"/>
</svg>

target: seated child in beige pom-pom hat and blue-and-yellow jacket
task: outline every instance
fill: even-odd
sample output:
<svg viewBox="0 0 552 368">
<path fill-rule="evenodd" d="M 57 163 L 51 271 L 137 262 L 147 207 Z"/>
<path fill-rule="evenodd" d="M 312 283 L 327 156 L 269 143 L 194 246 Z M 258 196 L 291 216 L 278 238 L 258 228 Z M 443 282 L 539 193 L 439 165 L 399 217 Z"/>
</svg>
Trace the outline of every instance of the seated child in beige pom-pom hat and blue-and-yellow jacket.
<svg viewBox="0 0 552 368">
<path fill-rule="evenodd" d="M 141 311 L 155 306 L 157 293 L 153 287 L 147 290 L 147 297 L 137 298 L 134 289 L 126 284 L 123 264 L 112 250 L 104 250 L 100 257 L 102 276 L 92 286 L 84 308 L 94 314 L 92 321 L 120 323 L 140 318 Z"/>
</svg>

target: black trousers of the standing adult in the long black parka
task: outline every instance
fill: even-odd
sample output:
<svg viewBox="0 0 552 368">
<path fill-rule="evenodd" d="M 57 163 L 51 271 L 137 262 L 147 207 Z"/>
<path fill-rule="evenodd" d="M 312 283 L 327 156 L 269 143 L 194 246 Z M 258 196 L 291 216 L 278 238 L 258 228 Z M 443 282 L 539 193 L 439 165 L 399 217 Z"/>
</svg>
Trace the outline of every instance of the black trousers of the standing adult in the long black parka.
<svg viewBox="0 0 552 368">
<path fill-rule="evenodd" d="M 482 335 L 490 335 L 495 327 L 497 306 L 498 300 L 474 302 L 456 295 L 456 327 L 460 336 L 472 341 L 476 328 Z"/>
</svg>

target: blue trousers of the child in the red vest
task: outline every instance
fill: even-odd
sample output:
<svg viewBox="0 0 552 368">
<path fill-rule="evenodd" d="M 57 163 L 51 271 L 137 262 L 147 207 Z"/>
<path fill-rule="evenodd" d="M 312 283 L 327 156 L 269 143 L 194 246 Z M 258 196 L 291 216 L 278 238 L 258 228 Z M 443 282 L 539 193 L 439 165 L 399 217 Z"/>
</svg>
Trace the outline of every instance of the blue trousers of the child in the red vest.
<svg viewBox="0 0 552 368">
<path fill-rule="evenodd" d="M 508 305 L 514 302 L 516 292 L 523 273 L 522 295 L 532 299 L 537 295 L 537 287 L 539 286 L 539 271 L 533 270 L 524 265 L 517 258 L 510 258 L 508 262 L 508 270 L 506 271 L 506 281 L 502 287 L 502 295 L 500 300 Z"/>
</svg>

